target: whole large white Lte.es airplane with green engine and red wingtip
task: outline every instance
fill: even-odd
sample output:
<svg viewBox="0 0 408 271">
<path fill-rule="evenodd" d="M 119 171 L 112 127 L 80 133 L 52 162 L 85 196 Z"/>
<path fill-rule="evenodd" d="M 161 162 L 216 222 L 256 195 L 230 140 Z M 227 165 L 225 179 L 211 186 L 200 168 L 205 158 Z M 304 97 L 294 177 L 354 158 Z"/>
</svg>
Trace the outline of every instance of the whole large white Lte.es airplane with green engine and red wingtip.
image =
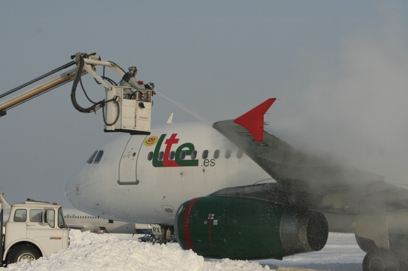
<svg viewBox="0 0 408 271">
<path fill-rule="evenodd" d="M 94 216 L 159 224 L 203 257 L 282 259 L 349 232 L 367 252 L 363 270 L 406 270 L 408 191 L 265 131 L 275 100 L 212 127 L 170 122 L 118 135 L 72 175 L 65 196 Z"/>
</svg>

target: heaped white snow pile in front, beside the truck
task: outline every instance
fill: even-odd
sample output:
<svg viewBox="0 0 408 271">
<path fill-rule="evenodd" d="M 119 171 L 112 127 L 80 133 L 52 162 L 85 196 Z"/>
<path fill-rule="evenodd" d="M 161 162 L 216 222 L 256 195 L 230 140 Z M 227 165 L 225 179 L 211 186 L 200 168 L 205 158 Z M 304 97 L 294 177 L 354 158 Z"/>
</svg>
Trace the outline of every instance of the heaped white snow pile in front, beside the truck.
<svg viewBox="0 0 408 271">
<path fill-rule="evenodd" d="M 10 264 L 4 270 L 269 270 L 258 262 L 205 261 L 191 250 L 182 250 L 177 243 L 141 243 L 136 235 L 70 230 L 70 238 L 68 249 L 30 263 Z"/>
</svg>

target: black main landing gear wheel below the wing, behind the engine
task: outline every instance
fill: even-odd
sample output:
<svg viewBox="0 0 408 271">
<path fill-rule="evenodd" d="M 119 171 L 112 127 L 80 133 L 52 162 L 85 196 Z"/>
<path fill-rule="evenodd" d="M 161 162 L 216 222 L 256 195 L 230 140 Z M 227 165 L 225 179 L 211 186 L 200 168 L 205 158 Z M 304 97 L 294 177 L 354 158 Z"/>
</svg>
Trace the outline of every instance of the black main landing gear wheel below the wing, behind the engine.
<svg viewBox="0 0 408 271">
<path fill-rule="evenodd" d="M 401 271 L 396 255 L 388 249 L 369 251 L 363 260 L 364 271 Z"/>
</svg>

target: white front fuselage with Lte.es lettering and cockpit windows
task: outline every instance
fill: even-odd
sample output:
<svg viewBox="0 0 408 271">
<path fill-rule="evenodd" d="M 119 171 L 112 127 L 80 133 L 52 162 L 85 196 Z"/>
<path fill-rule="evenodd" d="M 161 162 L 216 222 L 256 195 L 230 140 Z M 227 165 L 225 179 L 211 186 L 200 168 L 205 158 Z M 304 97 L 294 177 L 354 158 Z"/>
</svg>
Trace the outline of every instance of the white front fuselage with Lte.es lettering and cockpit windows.
<svg viewBox="0 0 408 271">
<path fill-rule="evenodd" d="M 91 158 L 67 183 L 67 199 L 88 214 L 124 222 L 172 225 L 186 200 L 226 187 L 273 182 L 203 124 L 167 124 L 148 136 L 120 134 Z"/>
</svg>

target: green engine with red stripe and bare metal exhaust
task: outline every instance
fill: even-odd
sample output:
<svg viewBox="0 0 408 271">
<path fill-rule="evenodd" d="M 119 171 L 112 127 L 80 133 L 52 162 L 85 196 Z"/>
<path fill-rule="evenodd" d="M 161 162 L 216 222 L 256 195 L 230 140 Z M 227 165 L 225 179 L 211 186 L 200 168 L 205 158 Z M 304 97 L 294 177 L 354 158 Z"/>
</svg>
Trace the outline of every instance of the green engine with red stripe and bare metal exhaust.
<svg viewBox="0 0 408 271">
<path fill-rule="evenodd" d="M 323 214 L 257 199 L 200 197 L 184 202 L 174 225 L 180 246 L 207 258 L 282 259 L 321 250 Z"/>
</svg>

